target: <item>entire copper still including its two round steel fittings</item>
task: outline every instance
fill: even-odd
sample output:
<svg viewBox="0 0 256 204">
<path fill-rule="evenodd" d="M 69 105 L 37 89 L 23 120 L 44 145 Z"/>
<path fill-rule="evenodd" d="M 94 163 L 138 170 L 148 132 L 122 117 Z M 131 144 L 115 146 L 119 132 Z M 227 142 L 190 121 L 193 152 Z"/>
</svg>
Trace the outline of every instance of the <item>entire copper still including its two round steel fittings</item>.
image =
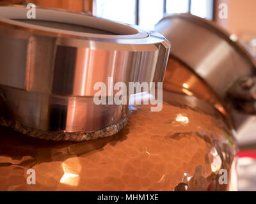
<svg viewBox="0 0 256 204">
<path fill-rule="evenodd" d="M 0 7 L 0 10 L 2 8 Z M 8 9 L 13 8 L 17 9 L 16 11 L 20 10 L 20 8 L 8 6 Z M 40 15 L 40 11 L 38 15 L 44 17 L 45 10 L 49 12 L 49 9 L 42 8 L 42 15 Z M 1 11 L 0 14 L 3 15 L 4 10 Z M 236 132 L 234 131 L 234 122 L 232 122 L 233 115 L 230 113 L 231 110 L 235 110 L 236 97 L 241 98 L 242 96 L 239 95 L 241 92 L 235 94 L 237 89 L 232 92 L 234 89 L 231 87 L 236 87 L 240 78 L 252 77 L 255 68 L 254 62 L 250 57 L 248 58 L 245 50 L 236 52 L 234 47 L 238 45 L 237 42 L 230 44 L 230 41 L 223 38 L 223 35 L 212 31 L 213 25 L 207 22 L 202 24 L 199 18 L 194 21 L 194 26 L 197 26 L 197 29 L 193 33 L 193 38 L 198 36 L 196 34 L 198 27 L 208 33 L 208 36 L 214 36 L 214 39 L 217 39 L 218 36 L 218 40 L 222 42 L 221 45 L 227 43 L 224 47 L 232 50 L 232 56 L 236 55 L 236 57 L 227 58 L 227 61 L 234 66 L 241 66 L 243 63 L 246 66 L 243 75 L 239 73 L 237 78 L 230 77 L 234 83 L 230 82 L 231 85 L 228 85 L 227 88 L 226 83 L 229 82 L 226 80 L 221 80 L 223 82 L 221 84 L 214 84 L 214 80 L 210 80 L 209 76 L 215 70 L 214 67 L 209 70 L 207 66 L 211 64 L 209 63 L 211 61 L 207 61 L 206 64 L 202 63 L 204 59 L 212 59 L 211 50 L 205 52 L 204 56 L 198 55 L 196 59 L 193 56 L 194 51 L 200 49 L 184 43 L 186 40 L 193 42 L 195 39 L 192 37 L 188 39 L 188 36 L 185 38 L 180 35 L 182 32 L 179 29 L 189 29 L 184 25 L 187 22 L 186 19 L 194 19 L 194 17 L 177 15 L 164 18 L 157 24 L 156 31 L 162 33 L 172 42 L 169 57 L 169 41 L 155 32 L 147 33 L 138 27 L 122 27 L 123 24 L 115 24 L 115 32 L 124 30 L 128 32 L 121 39 L 120 36 L 124 36 L 124 33 L 119 33 L 117 36 L 113 30 L 108 29 L 108 26 L 104 27 L 104 31 L 99 31 L 99 27 L 92 27 L 91 24 L 87 25 L 86 31 L 83 30 L 86 33 L 90 31 L 90 35 L 74 38 L 73 33 L 54 34 L 54 32 L 45 31 L 45 28 L 44 32 L 35 27 L 28 29 L 26 26 L 35 23 L 28 22 L 28 20 L 24 22 L 24 19 L 20 20 L 22 11 L 20 10 L 20 12 L 20 15 L 19 12 L 16 12 L 14 17 L 15 25 L 7 16 L 0 18 L 1 45 L 10 45 L 9 38 L 12 38 L 13 47 L 20 45 L 21 38 L 28 40 L 27 44 L 24 44 L 22 54 L 25 52 L 31 56 L 30 58 L 22 57 L 19 48 L 15 51 L 15 60 L 11 61 L 8 54 L 12 54 L 13 51 L 9 50 L 9 52 L 6 48 L 0 48 L 1 60 L 5 62 L 0 67 L 1 73 L 5 73 L 5 77 L 3 75 L 0 77 L 2 125 L 0 128 L 0 164 L 2 164 L 0 165 L 0 191 L 236 190 Z M 12 12 L 6 12 L 5 15 L 8 13 Z M 73 14 L 69 13 L 68 15 Z M 19 16 L 17 17 L 17 15 Z M 88 17 L 96 19 L 86 16 L 86 18 Z M 175 21 L 176 19 L 178 22 Z M 185 21 L 179 22 L 179 19 L 185 19 Z M 43 20 L 44 22 L 40 22 L 40 25 L 37 22 L 37 26 L 49 27 L 49 22 L 47 22 L 49 19 Z M 190 21 L 188 20 L 188 22 Z M 74 24 L 74 22 L 69 23 Z M 112 24 L 107 21 L 104 23 Z M 22 27 L 24 24 L 29 25 Z M 100 21 L 97 22 L 96 19 L 95 24 L 100 24 Z M 81 27 L 76 29 L 79 29 L 77 32 L 82 32 Z M 217 28 L 214 27 L 214 29 Z M 99 32 L 101 36 L 99 36 Z M 185 33 L 188 34 L 188 32 L 182 34 Z M 136 34 L 136 37 L 130 38 Z M 95 37 L 97 35 L 98 38 Z M 109 40 L 109 36 L 115 36 L 115 38 Z M 86 43 L 86 40 L 91 43 Z M 206 42 L 207 47 L 217 45 L 214 40 Z M 51 46 L 56 47 L 56 45 L 61 47 L 59 51 L 58 48 L 51 49 Z M 75 45 L 76 48 L 73 49 Z M 90 64 L 86 64 L 83 60 L 85 51 L 81 47 L 95 48 L 96 50 L 99 48 L 99 55 L 95 55 L 94 65 L 102 62 L 101 65 L 105 69 L 102 70 L 100 66 L 90 67 Z M 28 48 L 33 52 L 31 50 L 29 52 Z M 49 49 L 44 52 L 44 57 L 40 57 L 39 48 Z M 131 53 L 134 48 L 136 50 Z M 109 49 L 115 51 L 107 52 Z M 122 50 L 122 52 L 115 54 L 118 50 Z M 59 52 L 60 58 L 56 52 Z M 179 55 L 182 52 L 184 55 Z M 81 58 L 77 58 L 76 54 L 80 54 Z M 105 54 L 106 57 L 99 61 L 99 56 L 102 54 Z M 55 56 L 53 59 L 52 55 Z M 76 56 L 74 59 L 78 62 L 78 66 L 66 66 L 74 64 L 72 60 L 65 60 L 68 56 L 71 56 L 71 59 L 72 56 Z M 215 60 L 220 59 L 218 55 L 213 56 Z M 115 60 L 111 57 L 117 58 L 118 66 L 113 66 Z M 120 57 L 120 61 L 118 61 L 118 57 Z M 241 59 L 241 64 L 234 62 L 237 57 Z M 26 59 L 24 62 L 25 81 L 21 82 L 21 74 L 16 75 L 18 81 L 11 80 L 13 79 L 12 70 L 15 72 L 17 66 L 22 66 L 20 62 L 24 61 L 24 58 Z M 18 59 L 20 60 L 19 64 L 17 63 Z M 28 59 L 29 62 L 32 62 L 31 69 L 28 69 L 26 64 Z M 52 61 L 47 61 L 49 59 Z M 190 63 L 188 59 L 195 59 L 195 64 L 200 61 L 201 69 L 192 62 Z M 224 64 L 223 66 L 227 66 L 227 61 L 220 60 L 219 62 Z M 60 64 L 60 62 L 63 63 Z M 40 65 L 45 63 L 49 64 L 45 65 L 42 70 L 45 71 L 48 66 L 51 68 L 48 69 L 47 74 L 45 75 L 44 71 L 36 72 L 40 70 Z M 217 64 L 216 61 L 215 64 Z M 163 109 L 160 112 L 151 112 L 150 108 L 154 105 L 143 105 L 143 103 L 141 103 L 142 105 L 122 107 L 93 105 L 89 101 L 92 92 L 88 89 L 81 92 L 84 88 L 80 80 L 83 68 L 88 69 L 87 73 L 90 73 L 90 77 L 84 81 L 87 83 L 85 88 L 90 87 L 88 83 L 93 77 L 95 82 L 106 80 L 113 70 L 117 73 L 114 75 L 117 77 L 116 80 L 125 83 L 161 82 L 164 76 Z M 108 72 L 110 68 L 113 68 L 112 72 Z M 67 79 L 72 69 L 80 70 L 79 74 L 72 75 L 75 79 L 72 80 L 72 83 L 74 83 L 74 87 L 81 89 L 67 88 L 67 82 L 70 83 Z M 97 71 L 93 72 L 93 69 L 97 69 Z M 36 71 L 33 72 L 33 70 Z M 205 73 L 203 70 L 207 72 L 207 75 L 202 75 Z M 36 74 L 31 75 L 31 73 Z M 33 76 L 31 78 L 34 80 L 26 80 L 28 76 Z M 44 77 L 49 81 L 41 81 L 41 78 Z M 24 82 L 26 83 L 24 84 Z M 56 85 L 55 88 L 54 85 Z M 227 94 L 230 94 L 229 96 L 232 98 L 228 102 L 226 101 Z M 148 94 L 140 94 L 140 96 L 136 98 L 137 101 L 150 98 Z M 242 99 L 244 98 L 241 98 L 241 101 L 245 100 Z M 78 106 L 75 106 L 76 104 Z M 77 111 L 76 107 L 78 107 Z M 66 116 L 73 113 L 73 116 L 75 114 L 76 117 L 63 117 L 61 114 L 65 115 L 65 113 Z M 39 118 L 38 115 L 40 115 Z M 79 117 L 80 115 L 83 117 Z M 71 126 L 68 126 L 68 121 Z M 77 126 L 77 124 L 79 125 Z M 29 169 L 36 172 L 35 185 L 29 185 L 26 180 L 28 177 L 26 172 Z M 228 181 L 225 184 L 220 182 L 220 170 L 227 171 Z"/>
</svg>

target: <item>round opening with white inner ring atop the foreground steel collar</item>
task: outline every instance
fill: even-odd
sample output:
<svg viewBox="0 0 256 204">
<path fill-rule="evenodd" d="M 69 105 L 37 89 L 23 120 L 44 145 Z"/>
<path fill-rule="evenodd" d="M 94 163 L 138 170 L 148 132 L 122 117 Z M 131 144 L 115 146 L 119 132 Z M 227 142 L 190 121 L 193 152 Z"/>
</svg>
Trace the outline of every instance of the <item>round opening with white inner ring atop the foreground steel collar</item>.
<svg viewBox="0 0 256 204">
<path fill-rule="evenodd" d="M 1 6 L 0 18 L 9 24 L 54 33 L 72 34 L 93 38 L 145 38 L 147 33 L 138 29 L 90 15 L 48 8 L 35 8 L 36 18 L 28 19 L 29 9 Z M 7 18 L 7 19 L 6 19 Z"/>
</svg>

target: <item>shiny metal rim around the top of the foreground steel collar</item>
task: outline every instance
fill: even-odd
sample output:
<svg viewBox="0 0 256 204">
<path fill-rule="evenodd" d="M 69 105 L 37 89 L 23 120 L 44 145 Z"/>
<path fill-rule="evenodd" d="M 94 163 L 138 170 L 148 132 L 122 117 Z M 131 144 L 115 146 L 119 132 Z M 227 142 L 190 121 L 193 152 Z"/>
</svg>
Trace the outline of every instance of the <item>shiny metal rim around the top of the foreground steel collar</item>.
<svg viewBox="0 0 256 204">
<path fill-rule="evenodd" d="M 25 6 L 19 6 L 19 5 L 10 5 L 10 6 L 0 6 L 0 8 L 23 8 L 26 9 Z M 113 20 L 106 20 L 104 18 L 99 17 L 93 17 L 92 15 L 88 15 L 86 13 L 77 13 L 73 11 L 66 11 L 66 10 L 60 10 L 60 9 L 52 9 L 52 8 L 45 8 L 45 7 L 38 7 L 39 10 L 48 10 L 48 11 L 60 11 L 60 12 L 67 12 L 72 13 L 73 15 L 78 16 L 87 16 L 90 18 L 97 18 L 100 20 L 104 20 L 105 22 L 110 22 L 111 24 L 116 25 L 124 25 L 126 27 L 130 27 L 131 29 L 134 29 L 138 31 L 138 34 L 130 34 L 130 35 L 109 35 L 109 34 L 90 34 L 86 33 L 86 35 L 79 35 L 79 32 L 66 32 L 65 30 L 59 30 L 59 29 L 45 29 L 46 27 L 40 26 L 40 25 L 31 25 L 26 24 L 24 22 L 15 22 L 15 20 L 10 20 L 8 18 L 0 17 L 0 27 L 7 27 L 10 29 L 13 29 L 15 31 L 24 31 L 31 34 L 40 34 L 44 36 L 54 37 L 58 38 L 59 41 L 65 41 L 68 40 L 68 44 L 70 44 L 70 40 L 72 40 L 72 43 L 75 43 L 79 46 L 75 47 L 88 47 L 88 44 L 90 45 L 90 48 L 100 48 L 102 46 L 102 43 L 115 43 L 115 49 L 118 49 L 118 45 L 122 45 L 122 47 L 119 47 L 121 49 L 127 49 L 127 47 L 124 47 L 124 45 L 129 45 L 129 50 L 136 50 L 136 51 L 143 51 L 144 46 L 148 45 L 155 45 L 157 43 L 161 43 L 163 41 L 167 41 L 163 35 L 156 33 L 154 31 L 141 31 L 141 29 L 136 25 L 129 25 L 129 24 L 123 24 L 120 22 L 115 22 Z M 27 11 L 27 10 L 26 10 Z M 36 10 L 38 11 L 38 10 Z M 24 26 L 26 25 L 26 26 Z M 59 32 L 60 31 L 60 32 Z M 72 33 L 73 32 L 73 33 Z M 78 33 L 78 35 L 77 35 Z M 83 34 L 80 32 L 80 34 Z M 142 34 L 142 35 L 141 35 Z M 103 36 L 103 37 L 102 37 Z M 118 38 L 118 36 L 122 36 L 122 38 Z M 131 38 L 132 36 L 132 38 Z M 62 39 L 62 40 L 61 40 Z M 86 45 L 83 45 L 87 41 Z M 93 43 L 92 43 L 93 41 Z M 169 44 L 170 42 L 167 41 Z M 140 47 L 138 47 L 138 45 Z M 117 46 L 117 47 L 116 47 Z M 142 47 L 141 47 L 142 46 Z M 154 46 L 155 47 L 155 46 Z M 152 48 L 154 50 L 154 48 Z"/>
</svg>

